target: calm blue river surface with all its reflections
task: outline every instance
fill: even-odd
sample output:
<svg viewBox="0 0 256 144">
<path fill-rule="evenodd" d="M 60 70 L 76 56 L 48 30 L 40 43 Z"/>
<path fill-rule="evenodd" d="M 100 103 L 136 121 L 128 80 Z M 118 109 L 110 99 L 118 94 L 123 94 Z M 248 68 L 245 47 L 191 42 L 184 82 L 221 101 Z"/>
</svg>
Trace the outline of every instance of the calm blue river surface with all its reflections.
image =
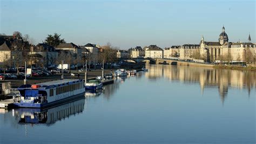
<svg viewBox="0 0 256 144">
<path fill-rule="evenodd" d="M 256 73 L 147 68 L 49 110 L 1 110 L 0 143 L 255 143 Z"/>
</svg>

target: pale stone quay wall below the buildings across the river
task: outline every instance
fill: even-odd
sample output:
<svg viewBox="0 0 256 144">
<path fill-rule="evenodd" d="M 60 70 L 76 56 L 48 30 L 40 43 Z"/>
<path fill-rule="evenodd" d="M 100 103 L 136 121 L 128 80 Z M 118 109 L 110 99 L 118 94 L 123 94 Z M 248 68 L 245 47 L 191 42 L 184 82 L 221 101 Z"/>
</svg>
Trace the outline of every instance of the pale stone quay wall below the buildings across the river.
<svg viewBox="0 0 256 144">
<path fill-rule="evenodd" d="M 214 64 L 205 64 L 205 63 L 178 61 L 178 60 L 166 60 L 166 59 L 157 59 L 156 64 L 171 64 L 171 65 L 177 65 L 177 66 L 194 66 L 194 67 L 213 67 L 214 66 Z"/>
</svg>

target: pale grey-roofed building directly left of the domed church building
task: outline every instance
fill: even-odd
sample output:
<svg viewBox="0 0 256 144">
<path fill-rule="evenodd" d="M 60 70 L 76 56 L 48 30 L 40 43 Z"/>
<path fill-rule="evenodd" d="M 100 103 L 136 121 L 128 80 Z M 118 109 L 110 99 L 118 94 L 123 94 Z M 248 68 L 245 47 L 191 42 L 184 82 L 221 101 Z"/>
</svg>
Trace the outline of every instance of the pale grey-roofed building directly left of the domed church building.
<svg viewBox="0 0 256 144">
<path fill-rule="evenodd" d="M 192 59 L 194 55 L 199 53 L 200 45 L 185 44 L 180 47 L 180 59 Z M 198 59 L 198 58 L 196 58 Z"/>
</svg>

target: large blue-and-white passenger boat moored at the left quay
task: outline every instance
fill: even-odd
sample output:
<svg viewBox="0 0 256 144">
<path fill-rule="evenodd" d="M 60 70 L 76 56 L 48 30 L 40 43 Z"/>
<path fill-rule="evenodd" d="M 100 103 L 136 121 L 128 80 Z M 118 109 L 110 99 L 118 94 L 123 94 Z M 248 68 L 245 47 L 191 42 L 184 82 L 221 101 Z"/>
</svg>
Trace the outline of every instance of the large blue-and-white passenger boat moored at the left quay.
<svg viewBox="0 0 256 144">
<path fill-rule="evenodd" d="M 18 88 L 19 97 L 14 97 L 16 107 L 50 107 L 83 96 L 83 80 L 58 80 L 38 84 L 25 84 Z"/>
</svg>

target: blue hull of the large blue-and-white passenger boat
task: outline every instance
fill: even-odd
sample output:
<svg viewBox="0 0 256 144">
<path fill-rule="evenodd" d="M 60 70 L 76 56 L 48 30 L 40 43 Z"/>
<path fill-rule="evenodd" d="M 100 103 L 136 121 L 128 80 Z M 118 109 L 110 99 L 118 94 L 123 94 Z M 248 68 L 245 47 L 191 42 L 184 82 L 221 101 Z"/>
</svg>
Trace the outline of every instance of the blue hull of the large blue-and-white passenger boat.
<svg viewBox="0 0 256 144">
<path fill-rule="evenodd" d="M 42 103 L 42 104 L 40 104 L 40 103 L 14 103 L 14 106 L 15 107 L 30 107 L 30 108 L 46 108 L 46 107 L 56 106 L 59 104 L 64 104 L 64 103 L 70 102 L 71 100 L 74 100 L 74 99 L 77 99 L 77 98 L 83 97 L 83 96 L 84 96 L 84 92 L 79 93 L 78 95 L 64 98 L 64 99 L 56 100 L 51 103 Z"/>
</svg>

